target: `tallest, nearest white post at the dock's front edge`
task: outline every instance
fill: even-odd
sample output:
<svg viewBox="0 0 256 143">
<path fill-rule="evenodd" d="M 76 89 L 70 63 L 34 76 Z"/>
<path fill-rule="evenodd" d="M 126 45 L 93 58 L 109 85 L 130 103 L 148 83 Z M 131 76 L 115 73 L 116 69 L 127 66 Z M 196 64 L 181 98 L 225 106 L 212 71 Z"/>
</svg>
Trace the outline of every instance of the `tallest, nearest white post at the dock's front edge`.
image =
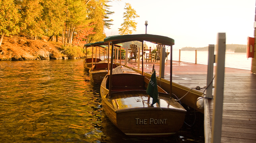
<svg viewBox="0 0 256 143">
<path fill-rule="evenodd" d="M 226 33 L 218 33 L 211 143 L 221 142 Z"/>
</svg>

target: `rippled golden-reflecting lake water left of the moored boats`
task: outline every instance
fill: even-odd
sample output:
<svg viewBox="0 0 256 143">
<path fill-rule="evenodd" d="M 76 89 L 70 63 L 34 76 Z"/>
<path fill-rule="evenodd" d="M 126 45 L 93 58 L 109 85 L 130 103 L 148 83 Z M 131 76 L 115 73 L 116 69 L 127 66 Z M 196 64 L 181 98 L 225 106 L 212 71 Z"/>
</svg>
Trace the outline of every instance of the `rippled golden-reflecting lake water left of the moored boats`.
<svg viewBox="0 0 256 143">
<path fill-rule="evenodd" d="M 127 137 L 106 117 L 84 59 L 0 61 L 1 143 L 203 143 L 203 116 L 165 138 Z M 194 121 L 188 110 L 186 122 Z M 154 130 L 154 129 L 152 129 Z"/>
</svg>

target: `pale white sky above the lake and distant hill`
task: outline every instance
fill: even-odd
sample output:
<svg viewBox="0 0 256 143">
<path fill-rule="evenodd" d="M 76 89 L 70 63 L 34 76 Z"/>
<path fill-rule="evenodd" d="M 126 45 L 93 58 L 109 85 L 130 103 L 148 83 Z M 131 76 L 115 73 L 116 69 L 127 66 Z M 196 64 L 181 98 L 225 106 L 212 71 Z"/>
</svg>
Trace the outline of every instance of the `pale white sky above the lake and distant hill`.
<svg viewBox="0 0 256 143">
<path fill-rule="evenodd" d="M 217 33 L 226 33 L 226 44 L 246 45 L 254 37 L 255 0 L 114 0 L 108 3 L 114 25 L 106 36 L 119 35 L 125 3 L 140 16 L 132 34 L 145 34 L 148 21 L 147 34 L 174 39 L 173 49 L 216 44 Z"/>
</svg>

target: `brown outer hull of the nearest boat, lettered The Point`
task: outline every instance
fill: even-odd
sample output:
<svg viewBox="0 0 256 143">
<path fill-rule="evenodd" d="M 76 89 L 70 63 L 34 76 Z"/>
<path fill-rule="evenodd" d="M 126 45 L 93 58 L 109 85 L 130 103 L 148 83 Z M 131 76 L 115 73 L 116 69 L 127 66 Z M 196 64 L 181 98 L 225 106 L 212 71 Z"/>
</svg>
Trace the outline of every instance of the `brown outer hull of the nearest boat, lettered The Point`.
<svg viewBox="0 0 256 143">
<path fill-rule="evenodd" d="M 180 130 L 185 119 L 184 112 L 154 107 L 116 112 L 105 100 L 103 109 L 110 121 L 128 136 L 169 136 Z"/>
</svg>

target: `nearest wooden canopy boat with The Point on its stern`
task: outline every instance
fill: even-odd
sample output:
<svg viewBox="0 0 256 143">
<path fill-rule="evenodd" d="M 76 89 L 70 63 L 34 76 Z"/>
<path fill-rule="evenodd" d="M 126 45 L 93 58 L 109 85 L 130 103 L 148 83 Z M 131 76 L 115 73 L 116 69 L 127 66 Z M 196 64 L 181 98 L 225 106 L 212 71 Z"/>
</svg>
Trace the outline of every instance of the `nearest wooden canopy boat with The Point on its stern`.
<svg viewBox="0 0 256 143">
<path fill-rule="evenodd" d="M 144 40 L 171 47 L 174 44 L 171 38 L 149 34 L 111 36 L 105 38 L 104 42 L 116 44 L 135 40 L 141 41 L 142 47 Z M 103 109 L 111 122 L 126 135 L 168 136 L 179 131 L 184 123 L 186 110 L 172 98 L 171 93 L 167 94 L 159 86 L 157 88 L 160 104 L 150 106 L 152 99 L 148 102 L 149 95 L 146 92 L 149 82 L 143 75 L 143 67 L 141 75 L 119 66 L 115 69 L 110 67 L 110 74 L 105 76 L 101 83 Z"/>
</svg>

